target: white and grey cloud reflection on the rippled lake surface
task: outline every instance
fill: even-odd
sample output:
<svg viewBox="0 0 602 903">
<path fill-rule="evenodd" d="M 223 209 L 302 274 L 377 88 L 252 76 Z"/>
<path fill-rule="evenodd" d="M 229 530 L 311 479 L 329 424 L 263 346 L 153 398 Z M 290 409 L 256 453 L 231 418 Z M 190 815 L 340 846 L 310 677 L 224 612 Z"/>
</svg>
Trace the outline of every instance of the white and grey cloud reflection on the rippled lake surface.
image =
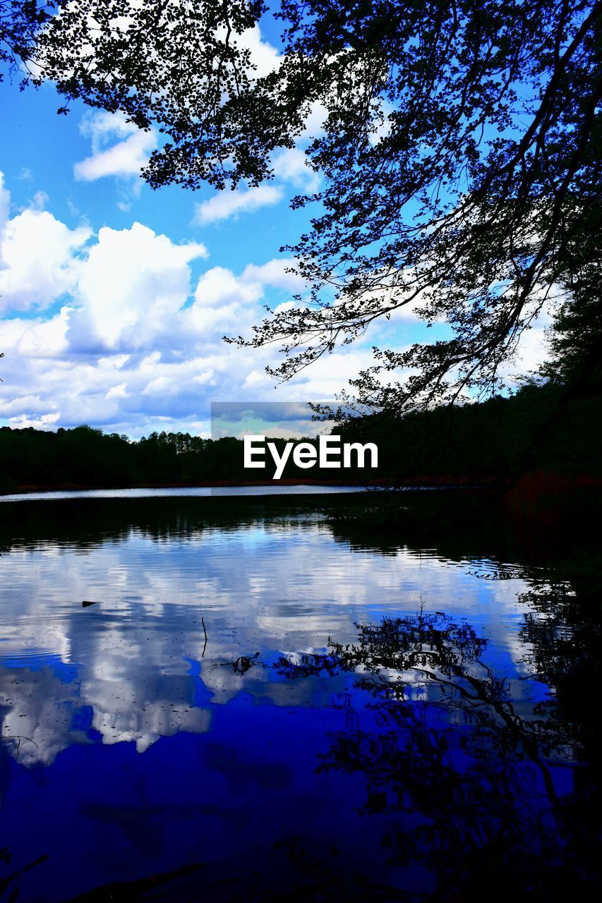
<svg viewBox="0 0 602 903">
<path fill-rule="evenodd" d="M 195 684 L 211 703 L 243 691 L 302 703 L 266 662 L 324 649 L 331 636 L 350 641 L 354 622 L 421 606 L 469 619 L 493 641 L 504 672 L 518 676 L 527 607 L 517 595 L 528 584 L 476 573 L 474 563 L 449 566 L 409 549 L 350 553 L 320 524 L 247 524 L 168 542 L 132 529 L 94 548 L 14 549 L 0 561 L 3 732 L 35 741 L 20 750 L 22 762 L 50 764 L 81 741 L 71 717 L 89 707 L 104 743 L 134 741 L 144 751 L 176 731 L 209 730 L 209 712 L 193 708 Z M 96 604 L 84 609 L 82 600 Z M 231 666 L 257 652 L 261 664 L 245 674 Z"/>
</svg>

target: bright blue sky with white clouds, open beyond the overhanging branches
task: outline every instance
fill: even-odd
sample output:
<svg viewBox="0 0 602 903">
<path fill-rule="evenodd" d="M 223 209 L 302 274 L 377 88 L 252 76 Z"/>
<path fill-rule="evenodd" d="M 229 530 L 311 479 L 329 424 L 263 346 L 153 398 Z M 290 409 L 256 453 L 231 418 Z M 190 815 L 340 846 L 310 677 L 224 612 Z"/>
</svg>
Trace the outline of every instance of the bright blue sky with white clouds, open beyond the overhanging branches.
<svg viewBox="0 0 602 903">
<path fill-rule="evenodd" d="M 277 50 L 254 30 L 259 68 Z M 276 155 L 258 189 L 151 191 L 140 166 L 155 147 L 121 116 L 62 104 L 51 85 L 0 83 L 0 424 L 90 424 L 137 438 L 153 430 L 208 435 L 216 401 L 324 401 L 372 362 L 372 345 L 432 340 L 413 312 L 377 321 L 351 347 L 277 386 L 277 349 L 238 349 L 263 305 L 304 291 L 278 248 L 309 213 L 301 142 Z M 319 127 L 319 113 L 308 133 Z M 532 330 L 524 368 L 540 358 Z M 520 367 L 513 368 L 513 372 Z"/>
</svg>

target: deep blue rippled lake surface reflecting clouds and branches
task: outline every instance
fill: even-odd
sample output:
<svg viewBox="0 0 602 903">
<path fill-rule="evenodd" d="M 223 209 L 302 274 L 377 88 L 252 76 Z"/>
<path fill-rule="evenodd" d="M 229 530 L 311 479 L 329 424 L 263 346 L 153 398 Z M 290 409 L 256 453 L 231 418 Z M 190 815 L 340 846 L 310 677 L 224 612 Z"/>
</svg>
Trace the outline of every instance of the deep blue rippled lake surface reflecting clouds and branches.
<svg viewBox="0 0 602 903">
<path fill-rule="evenodd" d="M 5 503 L 0 900 L 591 896 L 586 561 L 350 498 Z"/>
</svg>

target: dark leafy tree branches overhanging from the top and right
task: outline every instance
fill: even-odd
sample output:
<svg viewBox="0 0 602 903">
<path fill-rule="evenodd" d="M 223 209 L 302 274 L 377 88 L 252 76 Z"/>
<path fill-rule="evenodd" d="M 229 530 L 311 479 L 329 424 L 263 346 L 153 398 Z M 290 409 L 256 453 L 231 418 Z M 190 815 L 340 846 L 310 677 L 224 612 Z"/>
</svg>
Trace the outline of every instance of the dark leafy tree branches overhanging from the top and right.
<svg viewBox="0 0 602 903">
<path fill-rule="evenodd" d="M 239 339 L 279 342 L 277 376 L 414 307 L 447 338 L 374 349 L 354 384 L 399 411 L 497 391 L 544 305 L 585 312 L 577 340 L 599 323 L 600 2 L 280 0 L 269 70 L 249 41 L 262 0 L 0 9 L 1 58 L 55 82 L 60 112 L 80 98 L 163 133 L 155 188 L 257 185 L 319 113 L 321 187 L 293 201 L 319 206 L 287 247 L 310 299 Z"/>
</svg>

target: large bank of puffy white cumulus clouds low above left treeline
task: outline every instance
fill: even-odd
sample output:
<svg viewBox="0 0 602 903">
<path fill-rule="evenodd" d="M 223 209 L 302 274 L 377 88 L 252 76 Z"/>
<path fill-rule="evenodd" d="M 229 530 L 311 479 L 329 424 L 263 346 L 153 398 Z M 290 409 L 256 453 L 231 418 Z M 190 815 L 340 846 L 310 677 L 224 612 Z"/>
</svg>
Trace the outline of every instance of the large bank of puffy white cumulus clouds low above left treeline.
<svg viewBox="0 0 602 903">
<path fill-rule="evenodd" d="M 11 316 L 3 323 L 0 417 L 10 425 L 88 423 L 134 437 L 153 429 L 208 433 L 216 395 L 274 399 L 275 384 L 263 368 L 275 362 L 277 349 L 238 349 L 222 336 L 249 335 L 264 304 L 303 292 L 303 281 L 287 272 L 291 259 L 250 263 L 237 273 L 204 265 L 204 245 L 176 244 L 141 223 L 92 235 L 70 230 L 49 212 L 29 209 L 10 219 L 7 192 L 0 200 L 3 236 L 20 235 L 29 224 L 44 227 L 37 238 L 28 233 L 38 244 L 55 233 L 61 238 L 52 243 L 54 265 L 49 253 L 47 265 L 38 262 L 32 273 L 54 280 L 46 299 L 65 297 L 59 312 L 24 316 L 25 276 L 20 271 L 17 278 L 17 258 L 8 254 L 15 290 L 3 299 Z M 6 281 L 6 265 L 3 272 Z M 369 358 L 367 350 L 356 351 L 349 372 Z M 320 362 L 311 378 L 281 386 L 277 398 L 324 398 L 340 372 L 340 362 L 332 369 Z"/>
</svg>

